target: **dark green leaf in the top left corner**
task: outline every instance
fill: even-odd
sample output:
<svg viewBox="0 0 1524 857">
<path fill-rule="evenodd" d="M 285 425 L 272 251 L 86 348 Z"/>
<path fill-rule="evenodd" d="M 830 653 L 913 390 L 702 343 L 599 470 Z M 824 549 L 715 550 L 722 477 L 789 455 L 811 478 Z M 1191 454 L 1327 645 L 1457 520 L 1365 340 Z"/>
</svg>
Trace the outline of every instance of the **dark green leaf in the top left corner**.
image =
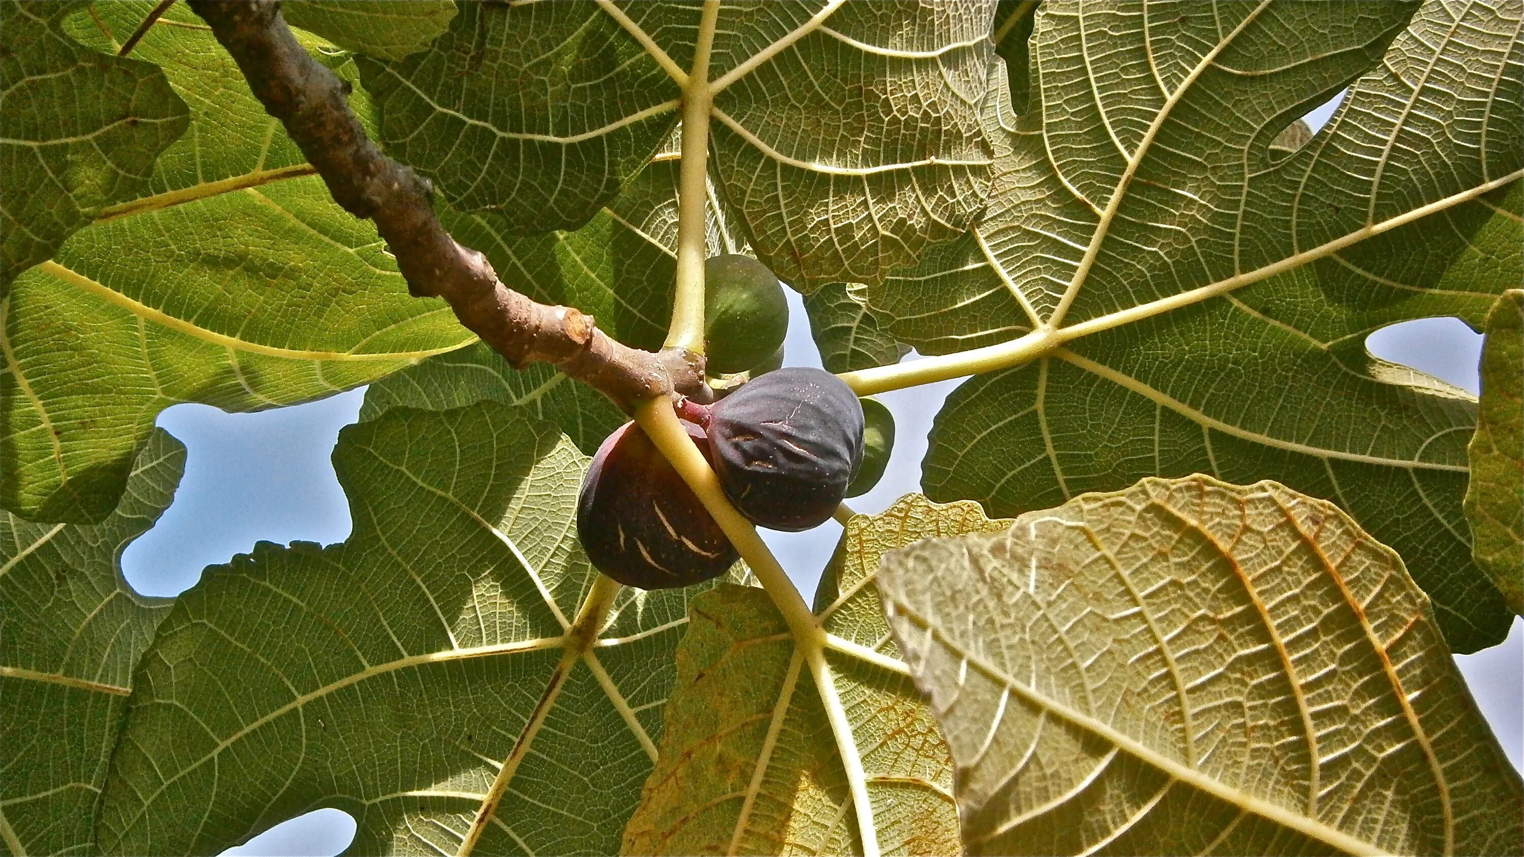
<svg viewBox="0 0 1524 857">
<path fill-rule="evenodd" d="M 154 158 L 186 129 L 163 72 L 62 30 L 81 6 L 0 5 L 0 292 L 101 209 L 142 195 Z"/>
</svg>

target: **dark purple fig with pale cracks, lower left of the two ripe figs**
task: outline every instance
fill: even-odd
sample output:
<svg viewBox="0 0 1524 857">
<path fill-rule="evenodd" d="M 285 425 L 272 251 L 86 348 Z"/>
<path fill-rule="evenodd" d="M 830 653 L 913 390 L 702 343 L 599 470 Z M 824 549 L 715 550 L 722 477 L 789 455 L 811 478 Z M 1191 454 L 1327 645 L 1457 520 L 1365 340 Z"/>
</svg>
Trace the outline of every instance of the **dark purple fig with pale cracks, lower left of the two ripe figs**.
<svg viewBox="0 0 1524 857">
<path fill-rule="evenodd" d="M 704 431 L 683 423 L 709 458 Z M 674 589 L 719 577 L 739 554 L 646 432 L 625 423 L 582 479 L 576 533 L 593 566 L 625 586 Z"/>
</svg>

